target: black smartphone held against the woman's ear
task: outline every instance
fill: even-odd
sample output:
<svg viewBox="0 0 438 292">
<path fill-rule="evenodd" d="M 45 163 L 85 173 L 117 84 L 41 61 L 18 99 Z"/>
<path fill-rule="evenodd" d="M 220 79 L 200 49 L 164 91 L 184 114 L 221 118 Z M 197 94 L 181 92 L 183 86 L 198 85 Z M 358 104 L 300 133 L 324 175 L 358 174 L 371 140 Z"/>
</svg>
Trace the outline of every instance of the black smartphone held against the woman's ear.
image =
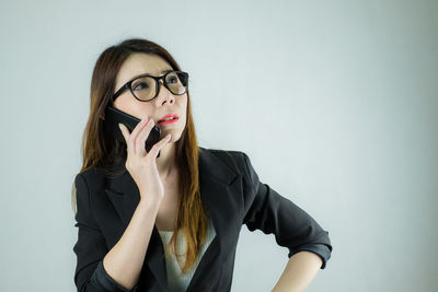
<svg viewBox="0 0 438 292">
<path fill-rule="evenodd" d="M 120 128 L 118 127 L 118 124 L 119 122 L 124 124 L 129 129 L 129 132 L 132 132 L 134 128 L 140 121 L 141 120 L 139 118 L 136 118 L 115 107 L 107 106 L 105 108 L 105 120 L 103 121 L 103 128 L 104 131 L 114 139 L 126 143 L 125 138 L 120 131 Z M 152 145 L 158 141 L 160 141 L 160 138 L 161 138 L 161 129 L 157 126 L 153 126 L 152 130 L 150 131 L 145 142 L 146 151 L 149 152 Z M 158 152 L 157 157 L 160 157 L 160 151 Z"/>
</svg>

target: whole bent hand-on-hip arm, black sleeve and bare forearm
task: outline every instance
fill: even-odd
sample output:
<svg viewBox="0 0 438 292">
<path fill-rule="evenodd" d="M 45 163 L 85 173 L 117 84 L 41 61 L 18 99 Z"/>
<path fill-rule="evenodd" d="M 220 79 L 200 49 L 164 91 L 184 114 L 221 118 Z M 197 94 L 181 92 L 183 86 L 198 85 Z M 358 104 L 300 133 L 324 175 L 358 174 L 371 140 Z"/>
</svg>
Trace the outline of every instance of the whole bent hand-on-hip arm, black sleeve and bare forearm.
<svg viewBox="0 0 438 292">
<path fill-rule="evenodd" d="M 243 153 L 244 219 L 250 231 L 274 234 L 289 249 L 288 265 L 273 292 L 304 291 L 319 269 L 324 269 L 333 250 L 328 232 L 303 209 L 262 183 Z"/>
</svg>

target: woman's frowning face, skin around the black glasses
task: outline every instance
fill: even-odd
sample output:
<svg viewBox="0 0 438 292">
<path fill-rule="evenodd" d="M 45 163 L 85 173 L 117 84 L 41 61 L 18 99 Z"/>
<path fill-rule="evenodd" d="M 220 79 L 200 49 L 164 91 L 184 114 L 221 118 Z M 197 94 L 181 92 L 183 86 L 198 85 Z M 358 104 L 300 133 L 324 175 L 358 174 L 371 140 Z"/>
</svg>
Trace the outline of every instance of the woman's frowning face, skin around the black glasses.
<svg viewBox="0 0 438 292">
<path fill-rule="evenodd" d="M 163 58 L 143 52 L 135 52 L 130 55 L 123 63 L 117 73 L 116 85 L 114 92 L 122 87 L 126 82 L 138 74 L 151 74 L 161 77 L 162 71 L 172 70 L 172 67 Z M 161 137 L 168 133 L 172 135 L 170 143 L 180 139 L 186 124 L 187 93 L 174 95 L 159 81 L 160 91 L 158 95 L 148 102 L 140 102 L 129 90 L 125 90 L 114 101 L 114 107 L 125 112 L 136 118 L 142 119 L 145 116 L 153 119 L 154 126 L 161 129 Z M 158 124 L 163 116 L 168 114 L 176 114 L 178 119 L 170 124 Z"/>
</svg>

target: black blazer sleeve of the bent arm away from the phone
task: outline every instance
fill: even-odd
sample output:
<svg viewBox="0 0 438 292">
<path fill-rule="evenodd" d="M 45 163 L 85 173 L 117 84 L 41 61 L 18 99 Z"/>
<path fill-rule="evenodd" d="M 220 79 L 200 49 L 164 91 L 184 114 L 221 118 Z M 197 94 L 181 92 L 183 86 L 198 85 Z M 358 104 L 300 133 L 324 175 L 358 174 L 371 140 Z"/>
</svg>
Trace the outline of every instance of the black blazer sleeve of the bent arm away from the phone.
<svg viewBox="0 0 438 292">
<path fill-rule="evenodd" d="M 250 231 L 274 233 L 277 244 L 289 249 L 289 258 L 302 250 L 319 255 L 324 269 L 333 249 L 328 232 L 304 210 L 260 182 L 249 156 L 242 153 L 246 166 L 243 223 Z"/>
</svg>

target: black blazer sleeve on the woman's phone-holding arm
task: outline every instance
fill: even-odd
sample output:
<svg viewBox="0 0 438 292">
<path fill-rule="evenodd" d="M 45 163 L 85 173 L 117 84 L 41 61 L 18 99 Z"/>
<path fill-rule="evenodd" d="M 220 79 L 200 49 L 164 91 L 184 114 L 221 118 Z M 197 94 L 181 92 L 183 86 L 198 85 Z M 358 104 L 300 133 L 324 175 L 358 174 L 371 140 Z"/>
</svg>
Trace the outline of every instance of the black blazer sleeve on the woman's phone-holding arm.
<svg viewBox="0 0 438 292">
<path fill-rule="evenodd" d="M 78 174 L 74 178 L 78 227 L 78 241 L 73 246 L 77 255 L 74 283 L 78 292 L 135 292 L 138 284 L 128 290 L 106 273 L 103 258 L 108 252 L 105 238 L 90 208 L 90 194 L 85 178 Z"/>
</svg>

